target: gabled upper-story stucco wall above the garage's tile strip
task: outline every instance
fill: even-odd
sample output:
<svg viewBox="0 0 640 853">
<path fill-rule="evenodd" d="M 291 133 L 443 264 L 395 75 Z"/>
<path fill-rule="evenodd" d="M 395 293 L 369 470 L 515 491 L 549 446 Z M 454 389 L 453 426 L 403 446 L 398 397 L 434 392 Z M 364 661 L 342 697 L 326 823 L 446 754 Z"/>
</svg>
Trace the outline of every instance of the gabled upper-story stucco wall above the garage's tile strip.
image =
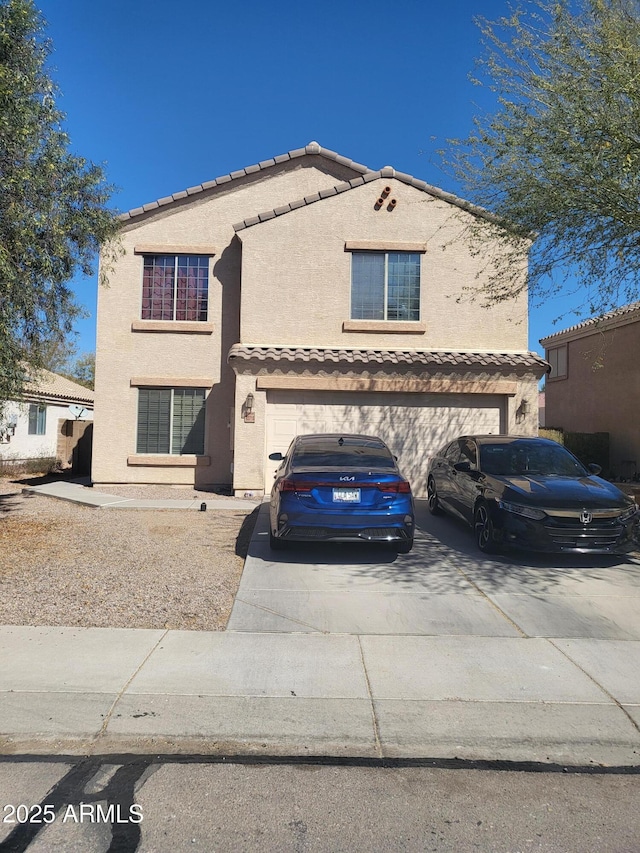
<svg viewBox="0 0 640 853">
<path fill-rule="evenodd" d="M 389 186 L 397 205 L 375 209 Z M 380 178 L 239 232 L 241 341 L 246 344 L 445 350 L 527 350 L 527 297 L 482 308 L 464 288 L 483 282 L 463 238 L 470 214 L 400 180 Z M 344 331 L 350 319 L 348 241 L 423 243 L 424 332 Z M 523 258 L 523 275 L 525 259 Z M 478 278 L 479 276 L 479 278 Z M 460 301 L 459 301 L 460 300 Z M 396 324 L 397 328 L 397 324 Z"/>
</svg>

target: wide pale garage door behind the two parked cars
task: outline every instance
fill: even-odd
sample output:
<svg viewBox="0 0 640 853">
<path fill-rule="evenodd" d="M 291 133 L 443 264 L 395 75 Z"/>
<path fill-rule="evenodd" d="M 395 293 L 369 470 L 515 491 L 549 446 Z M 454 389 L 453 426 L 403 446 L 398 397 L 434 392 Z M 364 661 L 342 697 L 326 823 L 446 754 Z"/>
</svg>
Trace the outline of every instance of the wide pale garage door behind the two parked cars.
<svg viewBox="0 0 640 853">
<path fill-rule="evenodd" d="M 414 494 L 424 496 L 429 456 L 458 435 L 499 435 L 504 400 L 484 394 L 268 391 L 265 490 L 271 491 L 279 464 L 270 453 L 285 453 L 296 435 L 343 432 L 386 441 Z"/>
</svg>

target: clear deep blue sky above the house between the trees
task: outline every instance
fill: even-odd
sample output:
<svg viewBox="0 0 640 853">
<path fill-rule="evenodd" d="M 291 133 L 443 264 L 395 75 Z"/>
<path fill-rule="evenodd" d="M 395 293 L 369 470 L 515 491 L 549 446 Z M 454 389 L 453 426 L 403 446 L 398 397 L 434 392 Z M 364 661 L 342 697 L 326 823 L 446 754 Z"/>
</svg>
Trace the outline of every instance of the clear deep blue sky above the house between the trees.
<svg viewBox="0 0 640 853">
<path fill-rule="evenodd" d="M 491 108 L 468 79 L 473 17 L 507 0 L 36 0 L 73 148 L 104 164 L 130 210 L 316 140 L 451 192 L 437 150 Z M 95 279 L 75 282 L 95 348 Z M 530 312 L 531 349 L 571 325 Z M 481 309 L 478 308 L 480 312 Z M 481 321 L 481 318 L 480 318 Z"/>
</svg>

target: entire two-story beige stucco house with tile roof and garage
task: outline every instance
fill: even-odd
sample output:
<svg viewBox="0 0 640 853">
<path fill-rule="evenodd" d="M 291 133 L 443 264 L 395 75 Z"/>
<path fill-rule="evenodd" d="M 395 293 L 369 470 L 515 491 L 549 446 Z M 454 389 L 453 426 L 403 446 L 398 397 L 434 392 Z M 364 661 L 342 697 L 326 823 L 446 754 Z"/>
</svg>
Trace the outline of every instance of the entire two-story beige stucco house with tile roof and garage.
<svg viewBox="0 0 640 853">
<path fill-rule="evenodd" d="M 526 293 L 485 309 L 466 291 L 482 215 L 315 142 L 125 214 L 99 290 L 94 482 L 260 494 L 297 433 L 360 432 L 423 494 L 456 435 L 535 435 Z"/>
</svg>

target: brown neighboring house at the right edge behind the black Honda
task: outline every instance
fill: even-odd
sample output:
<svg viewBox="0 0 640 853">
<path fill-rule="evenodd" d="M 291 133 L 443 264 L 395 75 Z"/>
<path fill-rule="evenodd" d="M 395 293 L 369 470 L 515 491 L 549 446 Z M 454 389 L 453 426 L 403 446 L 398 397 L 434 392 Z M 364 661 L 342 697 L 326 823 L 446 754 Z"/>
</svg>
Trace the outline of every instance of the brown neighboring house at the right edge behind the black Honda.
<svg viewBox="0 0 640 853">
<path fill-rule="evenodd" d="M 547 425 L 608 432 L 611 473 L 628 478 L 640 471 L 640 302 L 540 343 L 551 365 Z"/>
</svg>

